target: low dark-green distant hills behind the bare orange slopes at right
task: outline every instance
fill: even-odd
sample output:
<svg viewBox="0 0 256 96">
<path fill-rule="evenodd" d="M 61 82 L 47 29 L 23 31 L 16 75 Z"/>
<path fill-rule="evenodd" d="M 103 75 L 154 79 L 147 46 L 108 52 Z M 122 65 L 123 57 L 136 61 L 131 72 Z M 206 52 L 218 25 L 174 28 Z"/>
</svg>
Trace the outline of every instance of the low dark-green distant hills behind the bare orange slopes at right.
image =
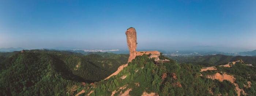
<svg viewBox="0 0 256 96">
<path fill-rule="evenodd" d="M 178 63 L 190 63 L 199 64 L 204 66 L 214 66 L 227 64 L 236 59 L 242 59 L 248 64 L 256 66 L 256 57 L 254 56 L 226 56 L 226 55 L 205 55 L 205 56 L 170 56 L 171 59 L 177 61 Z"/>
</svg>

